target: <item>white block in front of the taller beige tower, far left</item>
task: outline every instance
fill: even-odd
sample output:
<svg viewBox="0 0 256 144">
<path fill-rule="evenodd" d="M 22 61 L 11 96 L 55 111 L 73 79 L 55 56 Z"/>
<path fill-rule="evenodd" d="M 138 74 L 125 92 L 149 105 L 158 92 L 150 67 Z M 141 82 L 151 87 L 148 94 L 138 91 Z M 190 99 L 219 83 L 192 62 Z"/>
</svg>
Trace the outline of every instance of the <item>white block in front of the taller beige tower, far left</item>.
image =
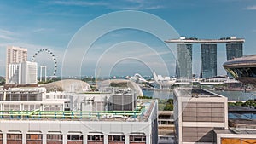
<svg viewBox="0 0 256 144">
<path fill-rule="evenodd" d="M 24 61 L 9 64 L 9 84 L 38 84 L 38 64 Z"/>
</svg>

